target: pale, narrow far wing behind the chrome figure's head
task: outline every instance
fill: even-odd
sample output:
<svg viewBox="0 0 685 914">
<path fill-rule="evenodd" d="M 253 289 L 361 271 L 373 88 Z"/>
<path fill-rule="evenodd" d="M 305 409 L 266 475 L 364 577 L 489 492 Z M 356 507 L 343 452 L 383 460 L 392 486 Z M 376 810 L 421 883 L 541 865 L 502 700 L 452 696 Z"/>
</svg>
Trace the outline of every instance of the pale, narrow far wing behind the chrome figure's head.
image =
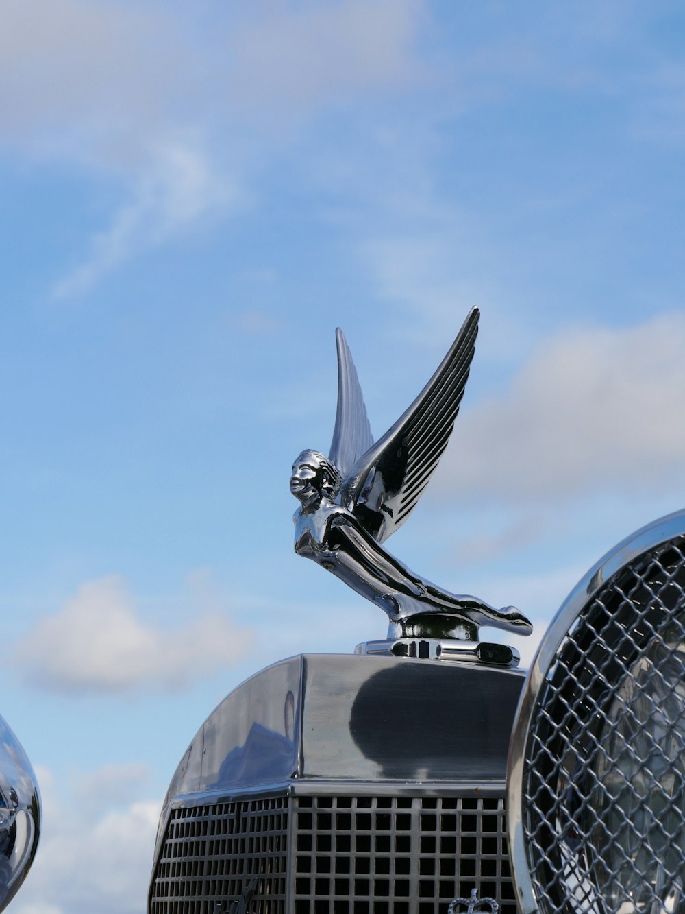
<svg viewBox="0 0 685 914">
<path fill-rule="evenodd" d="M 335 343 L 338 347 L 338 409 L 328 457 L 344 479 L 372 446 L 374 436 L 366 418 L 364 396 L 352 355 L 340 327 L 335 331 Z"/>
</svg>

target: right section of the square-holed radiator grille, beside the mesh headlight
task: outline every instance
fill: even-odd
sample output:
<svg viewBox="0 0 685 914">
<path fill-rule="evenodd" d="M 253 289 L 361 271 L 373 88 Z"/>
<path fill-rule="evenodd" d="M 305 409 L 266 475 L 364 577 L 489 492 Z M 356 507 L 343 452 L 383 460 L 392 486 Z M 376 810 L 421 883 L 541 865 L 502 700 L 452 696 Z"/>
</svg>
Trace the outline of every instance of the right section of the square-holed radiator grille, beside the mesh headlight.
<svg viewBox="0 0 685 914">
<path fill-rule="evenodd" d="M 515 914 L 503 800 L 298 797 L 295 914 L 445 914 L 455 896 Z"/>
</svg>

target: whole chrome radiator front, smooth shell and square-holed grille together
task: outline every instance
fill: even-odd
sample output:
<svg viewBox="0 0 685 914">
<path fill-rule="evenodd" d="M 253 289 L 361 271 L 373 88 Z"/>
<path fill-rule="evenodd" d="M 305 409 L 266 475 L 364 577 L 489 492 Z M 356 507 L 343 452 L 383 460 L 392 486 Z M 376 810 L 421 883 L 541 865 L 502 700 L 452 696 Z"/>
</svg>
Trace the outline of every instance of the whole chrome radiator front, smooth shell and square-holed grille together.
<svg viewBox="0 0 685 914">
<path fill-rule="evenodd" d="M 522 682 L 364 655 L 262 670 L 174 775 L 150 914 L 228 911 L 255 877 L 254 909 L 273 914 L 434 914 L 474 887 L 515 914 L 502 801 Z"/>
</svg>

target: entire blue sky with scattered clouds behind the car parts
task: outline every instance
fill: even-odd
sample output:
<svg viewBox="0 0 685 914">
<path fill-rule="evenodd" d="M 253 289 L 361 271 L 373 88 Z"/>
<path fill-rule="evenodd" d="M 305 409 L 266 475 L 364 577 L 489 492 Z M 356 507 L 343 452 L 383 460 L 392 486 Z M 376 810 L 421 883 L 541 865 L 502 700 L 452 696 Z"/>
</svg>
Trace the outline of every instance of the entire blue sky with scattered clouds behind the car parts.
<svg viewBox="0 0 685 914">
<path fill-rule="evenodd" d="M 683 505 L 684 50 L 660 0 L 0 5 L 2 713 L 46 813 L 16 914 L 142 914 L 212 707 L 383 636 L 292 552 L 336 325 L 377 437 L 481 309 L 388 544 L 446 588 L 540 633 Z"/>
</svg>

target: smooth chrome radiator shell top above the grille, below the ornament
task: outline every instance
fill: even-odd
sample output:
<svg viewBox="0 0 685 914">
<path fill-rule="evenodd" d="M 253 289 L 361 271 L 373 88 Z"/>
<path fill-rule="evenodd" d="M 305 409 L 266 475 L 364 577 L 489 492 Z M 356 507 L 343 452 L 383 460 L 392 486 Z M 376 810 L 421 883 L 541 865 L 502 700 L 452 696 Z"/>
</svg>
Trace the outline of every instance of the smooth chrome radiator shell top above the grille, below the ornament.
<svg viewBox="0 0 685 914">
<path fill-rule="evenodd" d="M 179 806 L 286 794 L 501 797 L 522 682 L 518 670 L 372 655 L 304 654 L 261 670 L 184 753 L 155 866 Z"/>
</svg>

